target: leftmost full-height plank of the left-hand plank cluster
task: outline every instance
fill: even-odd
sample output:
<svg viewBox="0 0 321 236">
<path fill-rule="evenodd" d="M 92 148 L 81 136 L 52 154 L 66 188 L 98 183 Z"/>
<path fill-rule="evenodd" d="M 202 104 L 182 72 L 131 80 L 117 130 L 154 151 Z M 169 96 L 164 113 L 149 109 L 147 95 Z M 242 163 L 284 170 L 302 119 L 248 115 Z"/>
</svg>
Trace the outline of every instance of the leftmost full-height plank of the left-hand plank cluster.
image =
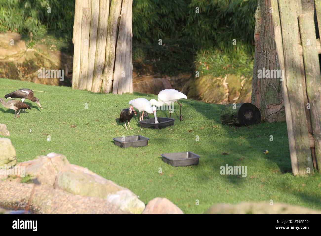
<svg viewBox="0 0 321 236">
<path fill-rule="evenodd" d="M 73 59 L 73 89 L 78 89 L 79 74 L 80 74 L 80 56 L 81 56 L 81 22 L 82 22 L 82 0 L 75 2 L 74 14 L 74 59 Z"/>
</svg>

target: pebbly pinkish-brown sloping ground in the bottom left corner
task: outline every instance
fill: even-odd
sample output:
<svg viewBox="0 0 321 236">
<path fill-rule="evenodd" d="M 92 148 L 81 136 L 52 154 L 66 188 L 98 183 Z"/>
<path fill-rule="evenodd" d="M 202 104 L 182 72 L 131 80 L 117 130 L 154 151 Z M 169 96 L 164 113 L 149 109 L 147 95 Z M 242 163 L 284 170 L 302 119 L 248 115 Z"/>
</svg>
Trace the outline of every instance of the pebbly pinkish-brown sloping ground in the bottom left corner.
<svg viewBox="0 0 321 236">
<path fill-rule="evenodd" d="M 73 195 L 48 185 L 0 181 L 0 207 L 37 214 L 129 214 L 99 197 Z M 14 190 L 14 191 L 13 191 Z"/>
</svg>

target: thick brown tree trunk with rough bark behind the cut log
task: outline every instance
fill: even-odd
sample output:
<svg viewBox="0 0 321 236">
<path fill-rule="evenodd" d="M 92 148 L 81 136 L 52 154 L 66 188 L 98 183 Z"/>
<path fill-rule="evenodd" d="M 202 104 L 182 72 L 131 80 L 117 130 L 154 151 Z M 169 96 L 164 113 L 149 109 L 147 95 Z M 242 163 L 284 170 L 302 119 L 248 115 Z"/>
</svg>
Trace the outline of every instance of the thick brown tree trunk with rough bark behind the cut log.
<svg viewBox="0 0 321 236">
<path fill-rule="evenodd" d="M 251 102 L 260 110 L 262 120 L 274 122 L 285 120 L 281 81 L 279 78 L 258 78 L 258 70 L 280 69 L 273 40 L 274 30 L 271 16 L 278 8 L 271 9 L 270 2 L 270 0 L 257 1 Z M 271 10 L 273 13 L 270 13 Z"/>
</svg>

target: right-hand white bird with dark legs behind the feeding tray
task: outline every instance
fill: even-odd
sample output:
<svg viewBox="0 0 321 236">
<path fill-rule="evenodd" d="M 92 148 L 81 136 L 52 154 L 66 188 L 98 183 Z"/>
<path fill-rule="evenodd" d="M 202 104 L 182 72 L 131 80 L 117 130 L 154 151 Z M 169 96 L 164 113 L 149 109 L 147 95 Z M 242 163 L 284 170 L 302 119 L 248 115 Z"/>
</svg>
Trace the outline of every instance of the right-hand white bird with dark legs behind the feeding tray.
<svg viewBox="0 0 321 236">
<path fill-rule="evenodd" d="M 183 98 L 187 99 L 187 96 L 184 93 L 181 93 L 175 89 L 164 89 L 158 93 L 158 96 L 157 96 L 158 101 L 156 101 L 155 99 L 151 99 L 149 101 L 152 105 L 155 105 L 158 107 L 162 106 L 164 103 L 167 104 L 169 106 L 169 118 L 171 115 L 170 104 L 176 101 L 179 104 L 179 117 L 180 117 L 180 120 L 182 121 L 183 120 L 182 104 L 180 104 L 177 100 L 183 99 Z"/>
</svg>

